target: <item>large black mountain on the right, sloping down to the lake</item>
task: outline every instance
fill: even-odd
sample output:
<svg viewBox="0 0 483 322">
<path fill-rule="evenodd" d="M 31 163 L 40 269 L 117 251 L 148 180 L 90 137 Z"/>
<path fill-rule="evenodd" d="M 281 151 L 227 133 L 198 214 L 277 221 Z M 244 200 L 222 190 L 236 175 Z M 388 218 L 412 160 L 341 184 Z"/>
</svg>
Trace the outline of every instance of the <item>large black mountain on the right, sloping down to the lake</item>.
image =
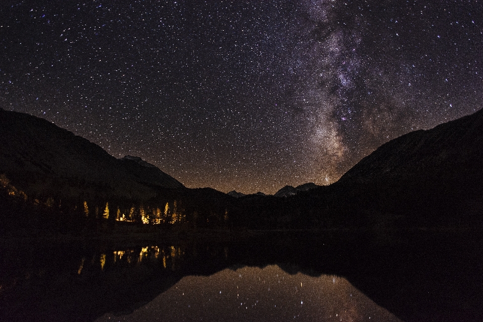
<svg viewBox="0 0 483 322">
<path fill-rule="evenodd" d="M 483 224 L 481 182 L 483 110 L 397 137 L 313 191 L 359 224 L 454 228 Z"/>
</svg>

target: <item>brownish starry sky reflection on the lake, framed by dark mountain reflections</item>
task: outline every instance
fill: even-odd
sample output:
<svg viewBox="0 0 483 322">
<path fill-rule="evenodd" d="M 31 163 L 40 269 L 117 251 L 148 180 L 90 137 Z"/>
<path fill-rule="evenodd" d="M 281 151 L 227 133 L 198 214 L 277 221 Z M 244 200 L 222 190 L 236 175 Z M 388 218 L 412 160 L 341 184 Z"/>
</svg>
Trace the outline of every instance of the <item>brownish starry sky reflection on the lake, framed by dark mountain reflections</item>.
<svg viewBox="0 0 483 322">
<path fill-rule="evenodd" d="M 276 265 L 186 276 L 134 312 L 102 321 L 399 321 L 345 278 L 290 275 Z"/>
</svg>

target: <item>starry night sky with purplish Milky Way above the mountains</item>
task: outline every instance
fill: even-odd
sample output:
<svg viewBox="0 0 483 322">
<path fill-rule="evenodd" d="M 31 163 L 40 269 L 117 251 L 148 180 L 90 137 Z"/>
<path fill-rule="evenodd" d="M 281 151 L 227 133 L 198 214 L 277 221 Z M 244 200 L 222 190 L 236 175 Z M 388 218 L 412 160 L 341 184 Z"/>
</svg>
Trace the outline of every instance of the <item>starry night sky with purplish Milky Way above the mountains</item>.
<svg viewBox="0 0 483 322">
<path fill-rule="evenodd" d="M 480 1 L 11 1 L 0 107 L 187 187 L 329 184 L 481 108 Z"/>
</svg>

